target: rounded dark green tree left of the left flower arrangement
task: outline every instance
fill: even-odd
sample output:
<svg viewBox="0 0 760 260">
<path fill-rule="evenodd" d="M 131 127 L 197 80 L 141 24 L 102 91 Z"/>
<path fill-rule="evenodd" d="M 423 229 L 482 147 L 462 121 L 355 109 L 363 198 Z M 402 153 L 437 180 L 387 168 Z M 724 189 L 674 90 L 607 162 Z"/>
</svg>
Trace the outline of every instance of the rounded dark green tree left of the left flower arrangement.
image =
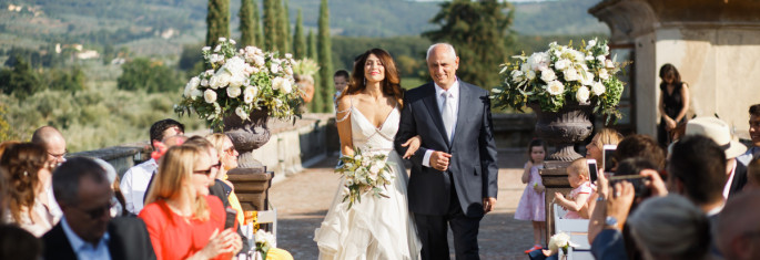
<svg viewBox="0 0 760 260">
<path fill-rule="evenodd" d="M 122 64 L 116 80 L 119 90 L 145 91 L 148 93 L 172 92 L 182 89 L 182 76 L 161 61 L 136 58 Z"/>
</svg>

